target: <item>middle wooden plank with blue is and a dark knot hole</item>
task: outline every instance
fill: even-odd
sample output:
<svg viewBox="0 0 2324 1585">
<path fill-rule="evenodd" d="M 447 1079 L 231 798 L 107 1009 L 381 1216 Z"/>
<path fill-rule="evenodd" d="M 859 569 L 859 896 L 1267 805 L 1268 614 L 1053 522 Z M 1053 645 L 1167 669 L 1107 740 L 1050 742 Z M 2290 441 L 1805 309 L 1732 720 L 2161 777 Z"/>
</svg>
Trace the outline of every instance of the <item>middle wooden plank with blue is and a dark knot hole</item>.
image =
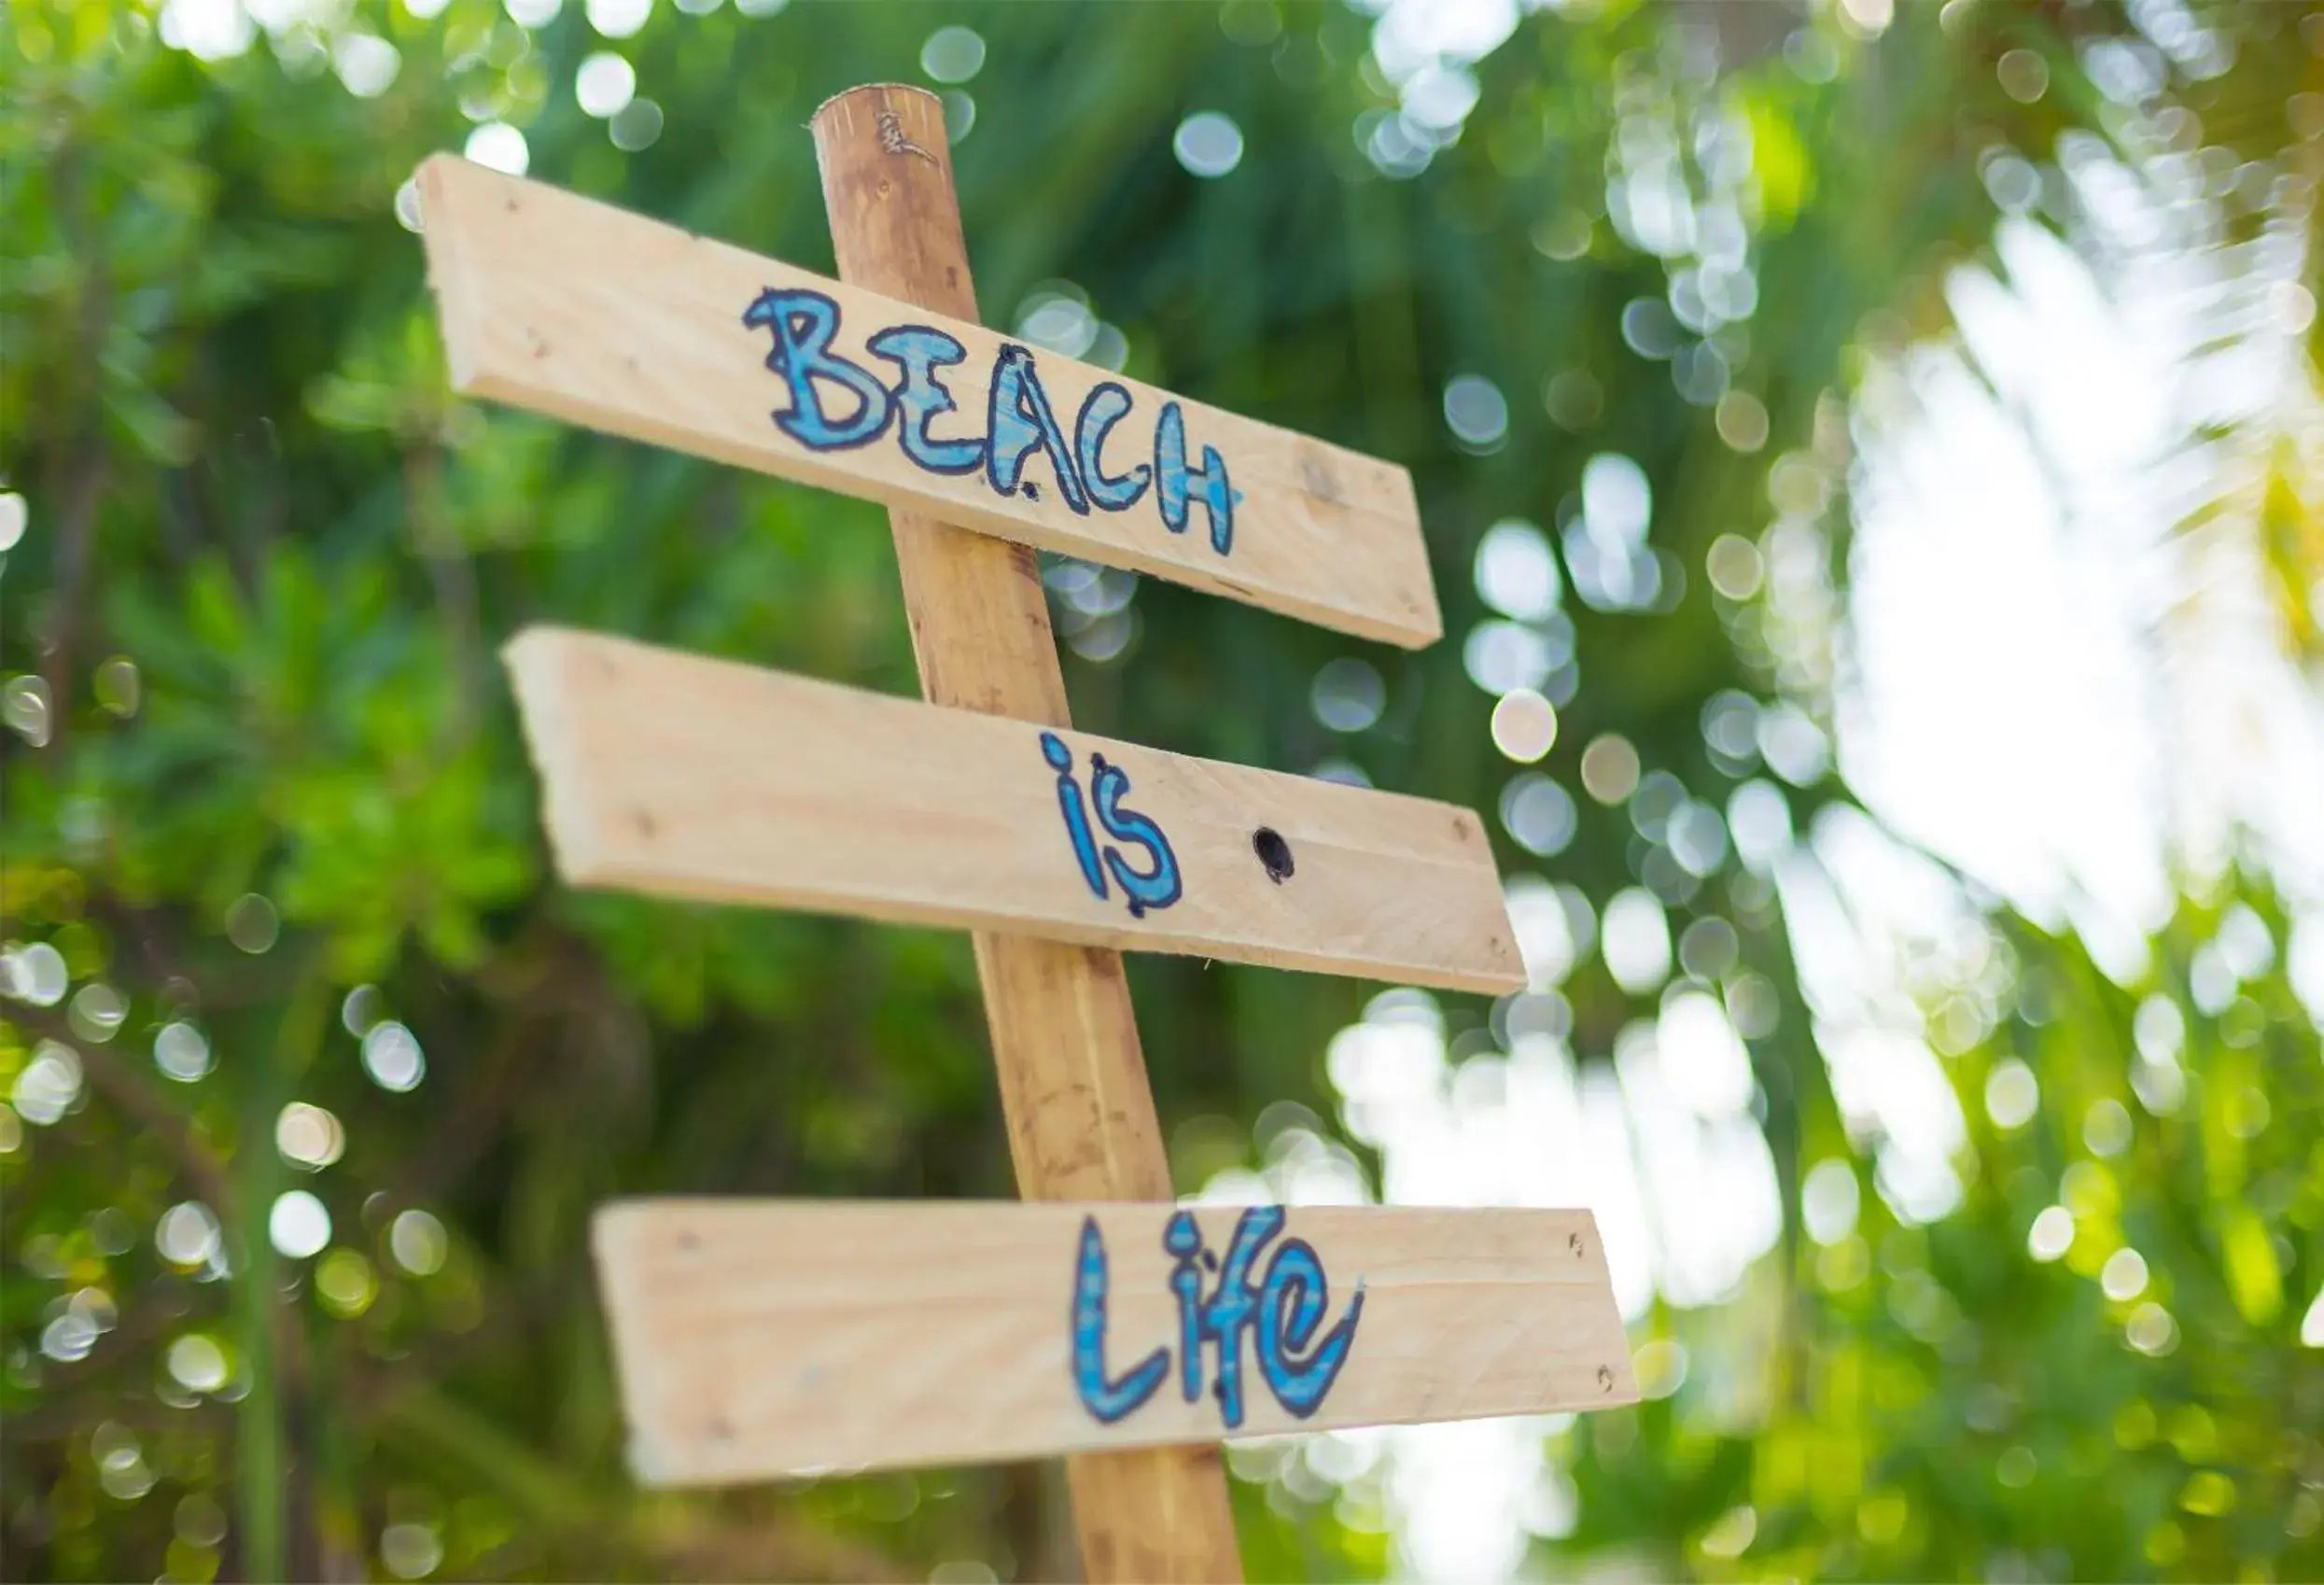
<svg viewBox="0 0 2324 1585">
<path fill-rule="evenodd" d="M 555 627 L 507 658 L 574 885 L 1525 985 L 1452 804 Z"/>
</svg>

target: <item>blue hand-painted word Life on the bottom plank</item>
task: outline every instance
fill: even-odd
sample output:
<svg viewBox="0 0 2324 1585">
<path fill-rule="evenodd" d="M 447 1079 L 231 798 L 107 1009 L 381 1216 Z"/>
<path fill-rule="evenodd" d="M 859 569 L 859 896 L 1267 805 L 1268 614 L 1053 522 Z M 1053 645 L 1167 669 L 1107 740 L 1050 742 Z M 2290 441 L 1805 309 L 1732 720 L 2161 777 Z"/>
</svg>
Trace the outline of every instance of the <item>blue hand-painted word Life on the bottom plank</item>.
<svg viewBox="0 0 2324 1585">
<path fill-rule="evenodd" d="M 1322 1408 L 1339 1380 L 1339 1369 L 1355 1348 L 1355 1325 L 1364 1315 L 1364 1283 L 1357 1281 L 1348 1313 L 1322 1336 L 1315 1334 L 1332 1306 L 1332 1285 L 1325 1281 L 1322 1257 L 1306 1239 L 1278 1243 L 1267 1276 L 1253 1278 L 1260 1250 L 1278 1232 L 1283 1206 L 1243 1211 L 1220 1262 L 1204 1246 L 1192 1211 L 1178 1211 L 1162 1229 L 1162 1248 L 1178 1260 L 1169 1274 L 1171 1292 L 1178 1294 L 1178 1392 L 1188 1404 L 1202 1397 L 1208 1346 L 1218 1371 L 1211 1394 L 1229 1432 L 1243 1422 L 1243 1329 L 1250 1329 L 1260 1380 L 1285 1413 L 1306 1420 Z M 1208 1294 L 1202 1292 L 1204 1271 L 1218 1274 Z M 1113 1425 L 1146 1404 L 1167 1378 L 1167 1346 L 1120 1376 L 1106 1376 L 1106 1239 L 1095 1215 L 1083 1218 L 1074 1267 L 1074 1390 L 1083 1408 L 1099 1425 Z"/>
</svg>

